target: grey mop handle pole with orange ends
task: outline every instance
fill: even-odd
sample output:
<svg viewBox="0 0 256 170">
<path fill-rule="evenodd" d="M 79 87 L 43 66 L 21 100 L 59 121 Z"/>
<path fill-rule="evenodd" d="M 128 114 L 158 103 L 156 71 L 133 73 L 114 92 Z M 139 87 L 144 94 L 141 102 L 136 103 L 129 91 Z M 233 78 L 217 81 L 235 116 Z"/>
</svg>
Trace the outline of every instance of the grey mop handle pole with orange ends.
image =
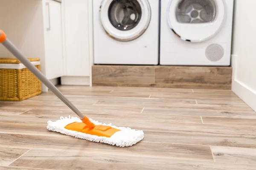
<svg viewBox="0 0 256 170">
<path fill-rule="evenodd" d="M 84 123 L 90 123 L 89 119 L 84 116 L 59 90 L 36 68 L 6 37 L 6 34 L 0 30 L 0 43 L 3 44 L 17 59 L 22 62 L 41 82 L 44 83 L 62 102 L 64 102 L 74 113 L 76 113 Z M 88 122 L 89 121 L 89 122 Z M 86 123 L 86 124 L 87 124 Z"/>
</svg>

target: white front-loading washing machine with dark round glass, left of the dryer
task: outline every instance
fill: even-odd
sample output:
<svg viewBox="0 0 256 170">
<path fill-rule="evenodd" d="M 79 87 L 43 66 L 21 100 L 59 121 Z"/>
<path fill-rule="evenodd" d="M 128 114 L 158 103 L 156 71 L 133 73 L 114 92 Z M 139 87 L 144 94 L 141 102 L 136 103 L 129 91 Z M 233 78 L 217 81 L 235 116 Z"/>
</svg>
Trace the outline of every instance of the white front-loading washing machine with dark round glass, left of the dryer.
<svg viewBox="0 0 256 170">
<path fill-rule="evenodd" d="M 159 0 L 93 0 L 94 64 L 159 64 Z"/>
</svg>

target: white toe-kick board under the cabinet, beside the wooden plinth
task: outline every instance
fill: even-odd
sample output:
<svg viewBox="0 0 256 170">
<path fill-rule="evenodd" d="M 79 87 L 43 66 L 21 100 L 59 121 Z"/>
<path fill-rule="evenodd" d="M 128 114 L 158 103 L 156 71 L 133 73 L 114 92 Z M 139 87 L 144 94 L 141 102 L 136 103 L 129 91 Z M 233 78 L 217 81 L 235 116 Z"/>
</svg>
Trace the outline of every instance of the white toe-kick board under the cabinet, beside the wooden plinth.
<svg viewBox="0 0 256 170">
<path fill-rule="evenodd" d="M 90 77 L 64 76 L 61 85 L 90 85 Z"/>
</svg>

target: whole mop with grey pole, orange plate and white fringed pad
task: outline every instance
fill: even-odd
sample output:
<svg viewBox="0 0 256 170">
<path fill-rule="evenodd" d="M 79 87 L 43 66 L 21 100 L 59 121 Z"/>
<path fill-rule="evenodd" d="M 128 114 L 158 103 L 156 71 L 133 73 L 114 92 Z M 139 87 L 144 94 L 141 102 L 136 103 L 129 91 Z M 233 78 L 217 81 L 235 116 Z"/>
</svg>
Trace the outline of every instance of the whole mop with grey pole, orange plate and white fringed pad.
<svg viewBox="0 0 256 170">
<path fill-rule="evenodd" d="M 46 85 L 62 102 L 64 102 L 67 107 L 79 116 L 61 116 L 60 119 L 55 122 L 48 121 L 47 129 L 49 131 L 118 147 L 132 146 L 144 138 L 142 130 L 134 130 L 129 127 L 117 127 L 87 118 L 18 50 L 2 30 L 0 30 L 0 43 L 20 60 L 20 62 L 22 62 L 23 65 L 44 83 L 44 85 Z"/>
</svg>

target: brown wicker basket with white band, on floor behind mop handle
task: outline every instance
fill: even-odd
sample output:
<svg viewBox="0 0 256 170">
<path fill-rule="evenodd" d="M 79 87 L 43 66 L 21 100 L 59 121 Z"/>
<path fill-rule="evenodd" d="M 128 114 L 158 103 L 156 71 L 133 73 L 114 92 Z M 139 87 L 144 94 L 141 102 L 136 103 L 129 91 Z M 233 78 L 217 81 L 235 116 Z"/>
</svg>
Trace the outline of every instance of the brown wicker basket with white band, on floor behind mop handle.
<svg viewBox="0 0 256 170">
<path fill-rule="evenodd" d="M 40 59 L 29 59 L 40 70 Z M 41 82 L 17 59 L 0 58 L 0 100 L 21 101 L 42 93 Z"/>
</svg>

